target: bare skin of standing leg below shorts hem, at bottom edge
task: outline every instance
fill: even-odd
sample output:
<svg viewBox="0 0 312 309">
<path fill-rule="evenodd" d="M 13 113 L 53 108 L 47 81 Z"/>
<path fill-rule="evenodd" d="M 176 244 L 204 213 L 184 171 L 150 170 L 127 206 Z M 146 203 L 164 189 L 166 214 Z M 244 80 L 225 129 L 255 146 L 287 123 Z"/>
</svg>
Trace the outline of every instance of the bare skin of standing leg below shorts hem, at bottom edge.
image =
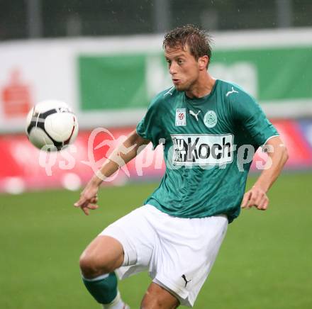
<svg viewBox="0 0 312 309">
<path fill-rule="evenodd" d="M 155 282 L 150 283 L 141 303 L 141 309 L 174 309 L 178 307 L 179 300 Z"/>
</svg>

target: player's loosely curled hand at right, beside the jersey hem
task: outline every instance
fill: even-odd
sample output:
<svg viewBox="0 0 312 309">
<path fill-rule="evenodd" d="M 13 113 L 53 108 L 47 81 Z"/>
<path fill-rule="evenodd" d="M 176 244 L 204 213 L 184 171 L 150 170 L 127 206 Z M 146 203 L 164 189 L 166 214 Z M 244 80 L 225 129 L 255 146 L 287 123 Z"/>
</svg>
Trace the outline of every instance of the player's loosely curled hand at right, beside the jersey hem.
<svg viewBox="0 0 312 309">
<path fill-rule="evenodd" d="M 253 186 L 252 189 L 245 193 L 240 207 L 249 209 L 255 206 L 259 210 L 266 210 L 268 205 L 269 198 L 267 193 L 260 187 Z"/>
</svg>

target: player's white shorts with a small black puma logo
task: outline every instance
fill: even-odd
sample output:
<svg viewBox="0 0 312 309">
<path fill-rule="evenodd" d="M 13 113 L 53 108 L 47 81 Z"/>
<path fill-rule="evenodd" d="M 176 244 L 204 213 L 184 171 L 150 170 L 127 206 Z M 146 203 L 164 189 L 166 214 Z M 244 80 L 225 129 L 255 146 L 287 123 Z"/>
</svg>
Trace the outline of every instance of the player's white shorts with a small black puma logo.
<svg viewBox="0 0 312 309">
<path fill-rule="evenodd" d="M 106 227 L 100 235 L 123 245 L 119 279 L 148 270 L 152 281 L 192 307 L 216 259 L 228 227 L 226 215 L 177 218 L 145 205 Z"/>
</svg>

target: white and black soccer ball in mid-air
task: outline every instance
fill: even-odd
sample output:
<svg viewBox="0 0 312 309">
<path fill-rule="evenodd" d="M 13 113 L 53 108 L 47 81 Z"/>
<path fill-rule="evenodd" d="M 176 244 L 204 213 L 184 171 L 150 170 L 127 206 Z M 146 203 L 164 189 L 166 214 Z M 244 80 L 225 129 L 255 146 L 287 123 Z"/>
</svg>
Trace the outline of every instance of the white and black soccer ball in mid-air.
<svg viewBox="0 0 312 309">
<path fill-rule="evenodd" d="M 77 137 L 77 117 L 65 102 L 41 101 L 28 113 L 26 134 L 28 140 L 39 149 L 62 150 Z"/>
</svg>

